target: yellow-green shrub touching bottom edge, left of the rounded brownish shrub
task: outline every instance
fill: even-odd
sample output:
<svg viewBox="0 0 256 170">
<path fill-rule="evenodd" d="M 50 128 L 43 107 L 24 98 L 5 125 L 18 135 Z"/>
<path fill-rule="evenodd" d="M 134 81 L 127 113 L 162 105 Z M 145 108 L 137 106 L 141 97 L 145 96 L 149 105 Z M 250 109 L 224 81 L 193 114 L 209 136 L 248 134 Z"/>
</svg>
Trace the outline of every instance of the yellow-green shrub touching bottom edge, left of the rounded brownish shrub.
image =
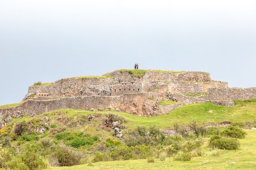
<svg viewBox="0 0 256 170">
<path fill-rule="evenodd" d="M 27 150 L 21 156 L 22 161 L 28 166 L 30 170 L 39 169 L 40 166 L 43 166 L 44 162 L 39 157 L 38 154 L 32 150 Z"/>
</svg>

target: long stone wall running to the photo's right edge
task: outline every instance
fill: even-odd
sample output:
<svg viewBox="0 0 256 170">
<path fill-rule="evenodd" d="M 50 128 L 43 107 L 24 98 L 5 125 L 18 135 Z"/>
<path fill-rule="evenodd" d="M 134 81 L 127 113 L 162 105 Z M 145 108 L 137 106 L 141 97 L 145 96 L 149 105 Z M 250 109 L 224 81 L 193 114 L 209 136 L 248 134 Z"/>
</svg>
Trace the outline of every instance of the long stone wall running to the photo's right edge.
<svg viewBox="0 0 256 170">
<path fill-rule="evenodd" d="M 209 100 L 246 100 L 256 98 L 256 87 L 251 88 L 210 88 L 207 98 Z"/>
</svg>

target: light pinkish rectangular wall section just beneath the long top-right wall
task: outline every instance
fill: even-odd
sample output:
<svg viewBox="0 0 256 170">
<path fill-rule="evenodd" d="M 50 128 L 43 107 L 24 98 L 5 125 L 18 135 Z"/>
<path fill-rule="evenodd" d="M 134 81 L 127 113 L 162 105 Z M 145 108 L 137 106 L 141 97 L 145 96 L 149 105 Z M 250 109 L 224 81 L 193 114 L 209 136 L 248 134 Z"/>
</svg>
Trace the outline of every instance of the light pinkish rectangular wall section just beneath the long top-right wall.
<svg viewBox="0 0 256 170">
<path fill-rule="evenodd" d="M 202 83 L 169 82 L 169 92 L 178 94 L 202 94 Z"/>
</svg>

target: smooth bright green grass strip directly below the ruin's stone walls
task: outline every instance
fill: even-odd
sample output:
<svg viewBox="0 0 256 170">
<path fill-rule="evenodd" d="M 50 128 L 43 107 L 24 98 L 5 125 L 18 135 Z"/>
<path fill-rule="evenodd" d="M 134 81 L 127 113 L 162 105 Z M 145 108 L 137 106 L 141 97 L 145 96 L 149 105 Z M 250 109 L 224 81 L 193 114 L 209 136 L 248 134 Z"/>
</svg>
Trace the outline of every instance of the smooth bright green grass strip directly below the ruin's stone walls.
<svg viewBox="0 0 256 170">
<path fill-rule="evenodd" d="M 74 119 L 77 115 L 89 115 L 95 113 L 107 114 L 115 113 L 118 114 L 128 121 L 126 124 L 128 128 L 135 128 L 137 125 L 143 125 L 149 127 L 150 125 L 156 125 L 159 128 L 169 128 L 174 123 L 190 123 L 192 120 L 197 121 L 199 124 L 202 123 L 221 123 L 223 121 L 231 122 L 252 122 L 256 120 L 256 100 L 254 102 L 235 102 L 235 107 L 225 107 L 219 105 L 212 105 L 211 103 L 186 105 L 177 109 L 172 110 L 169 114 L 161 116 L 135 116 L 125 112 L 116 112 L 114 110 L 109 111 L 87 111 L 87 110 L 75 110 L 69 109 L 67 114 L 63 114 L 66 109 L 61 109 L 62 116 L 69 116 Z M 210 112 L 209 112 L 210 111 Z M 54 111 L 58 112 L 58 111 Z M 53 112 L 48 112 L 43 115 L 52 115 Z M 38 115 L 40 116 L 40 115 Z M 41 116 L 40 116 L 41 117 Z M 35 117 L 34 117 L 35 118 Z M 17 120 L 21 120 L 19 118 Z M 32 119 L 32 118 L 28 118 Z"/>
</svg>

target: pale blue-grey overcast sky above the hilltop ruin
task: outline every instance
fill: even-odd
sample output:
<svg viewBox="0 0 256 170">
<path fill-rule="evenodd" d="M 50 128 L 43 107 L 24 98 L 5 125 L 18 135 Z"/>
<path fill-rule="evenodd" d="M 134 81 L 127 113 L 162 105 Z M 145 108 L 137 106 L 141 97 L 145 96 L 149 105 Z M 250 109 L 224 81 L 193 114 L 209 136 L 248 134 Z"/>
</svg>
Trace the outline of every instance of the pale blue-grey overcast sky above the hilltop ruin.
<svg viewBox="0 0 256 170">
<path fill-rule="evenodd" d="M 0 105 L 135 63 L 256 87 L 256 1 L 0 0 Z"/>
</svg>

